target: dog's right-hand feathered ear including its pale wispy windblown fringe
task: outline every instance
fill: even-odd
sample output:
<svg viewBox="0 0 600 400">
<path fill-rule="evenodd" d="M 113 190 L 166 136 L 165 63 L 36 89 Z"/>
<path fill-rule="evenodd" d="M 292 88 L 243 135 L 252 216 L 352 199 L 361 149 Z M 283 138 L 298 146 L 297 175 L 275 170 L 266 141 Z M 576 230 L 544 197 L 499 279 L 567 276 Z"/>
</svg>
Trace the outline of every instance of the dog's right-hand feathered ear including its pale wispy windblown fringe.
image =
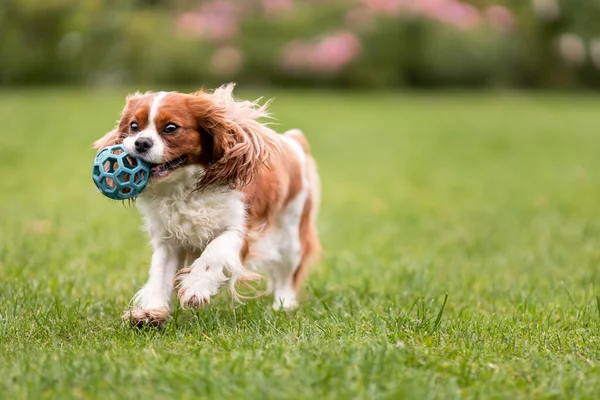
<svg viewBox="0 0 600 400">
<path fill-rule="evenodd" d="M 258 121 L 269 116 L 267 104 L 238 101 L 233 87 L 222 86 L 214 93 L 199 91 L 191 98 L 199 129 L 213 141 L 211 163 L 198 182 L 199 188 L 215 183 L 242 188 L 279 150 L 275 133 Z"/>
</svg>

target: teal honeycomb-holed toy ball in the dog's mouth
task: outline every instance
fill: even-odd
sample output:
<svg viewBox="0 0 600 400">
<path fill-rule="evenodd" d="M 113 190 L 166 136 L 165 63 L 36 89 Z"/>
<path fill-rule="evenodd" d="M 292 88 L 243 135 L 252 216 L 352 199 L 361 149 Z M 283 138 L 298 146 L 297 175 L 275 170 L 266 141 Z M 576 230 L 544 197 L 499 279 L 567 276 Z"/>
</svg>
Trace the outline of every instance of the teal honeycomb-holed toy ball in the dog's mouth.
<svg viewBox="0 0 600 400">
<path fill-rule="evenodd" d="M 92 178 L 100 192 L 113 200 L 138 196 L 150 180 L 150 166 L 118 144 L 96 154 Z"/>
</svg>

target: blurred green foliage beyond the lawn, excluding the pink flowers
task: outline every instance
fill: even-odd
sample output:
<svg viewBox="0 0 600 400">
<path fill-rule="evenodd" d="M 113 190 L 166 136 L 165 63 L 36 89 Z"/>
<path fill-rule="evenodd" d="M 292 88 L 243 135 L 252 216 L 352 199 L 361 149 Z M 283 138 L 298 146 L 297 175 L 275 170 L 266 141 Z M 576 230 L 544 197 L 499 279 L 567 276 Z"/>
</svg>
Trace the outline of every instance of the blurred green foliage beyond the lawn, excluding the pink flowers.
<svg viewBox="0 0 600 400">
<path fill-rule="evenodd" d="M 598 0 L 563 0 L 559 14 L 549 20 L 536 14 L 530 1 L 500 2 L 516 18 L 511 32 L 494 31 L 486 23 L 461 30 L 426 18 L 378 16 L 373 30 L 358 31 L 360 57 L 335 73 L 286 70 L 282 54 L 292 40 L 347 29 L 344 15 L 353 2 L 296 2 L 293 13 L 277 17 L 258 12 L 256 4 L 248 6 L 241 33 L 224 43 L 177 33 L 178 16 L 203 3 L 2 1 L 0 84 L 600 85 L 600 54 L 596 66 L 589 54 L 584 65 L 572 66 L 557 51 L 560 34 L 575 33 L 588 52 L 588 44 L 600 37 Z M 481 11 L 497 4 L 471 3 Z M 237 71 L 211 67 L 222 45 L 243 55 Z"/>
</svg>

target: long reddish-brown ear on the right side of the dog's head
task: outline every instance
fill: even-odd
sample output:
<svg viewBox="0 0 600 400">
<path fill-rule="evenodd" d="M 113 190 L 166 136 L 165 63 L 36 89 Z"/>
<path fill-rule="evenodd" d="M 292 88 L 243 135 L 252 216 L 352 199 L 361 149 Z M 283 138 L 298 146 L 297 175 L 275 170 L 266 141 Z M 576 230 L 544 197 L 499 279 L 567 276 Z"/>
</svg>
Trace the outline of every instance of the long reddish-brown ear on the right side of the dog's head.
<svg viewBox="0 0 600 400">
<path fill-rule="evenodd" d="M 212 147 L 206 149 L 209 162 L 198 187 L 224 183 L 240 189 L 248 185 L 269 154 L 268 138 L 260 131 L 264 126 L 256 121 L 232 119 L 230 110 L 206 93 L 196 93 L 190 102 L 198 130 L 202 136 L 208 136 L 202 145 Z"/>
</svg>

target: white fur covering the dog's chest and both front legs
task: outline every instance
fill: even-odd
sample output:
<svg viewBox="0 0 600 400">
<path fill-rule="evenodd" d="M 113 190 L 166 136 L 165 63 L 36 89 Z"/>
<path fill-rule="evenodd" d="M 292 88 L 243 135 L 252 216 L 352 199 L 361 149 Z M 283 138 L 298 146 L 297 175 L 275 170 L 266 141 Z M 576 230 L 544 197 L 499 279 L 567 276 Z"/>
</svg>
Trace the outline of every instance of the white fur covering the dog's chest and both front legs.
<svg viewBox="0 0 600 400">
<path fill-rule="evenodd" d="M 181 280 L 182 305 L 192 296 L 208 302 L 223 284 L 235 283 L 244 272 L 240 260 L 246 221 L 242 194 L 228 188 L 194 191 L 201 173 L 195 166 L 176 170 L 149 186 L 137 200 L 154 254 L 150 279 L 136 295 L 136 306 L 170 307 L 173 277 L 183 267 L 183 255 L 201 254 Z"/>
</svg>

